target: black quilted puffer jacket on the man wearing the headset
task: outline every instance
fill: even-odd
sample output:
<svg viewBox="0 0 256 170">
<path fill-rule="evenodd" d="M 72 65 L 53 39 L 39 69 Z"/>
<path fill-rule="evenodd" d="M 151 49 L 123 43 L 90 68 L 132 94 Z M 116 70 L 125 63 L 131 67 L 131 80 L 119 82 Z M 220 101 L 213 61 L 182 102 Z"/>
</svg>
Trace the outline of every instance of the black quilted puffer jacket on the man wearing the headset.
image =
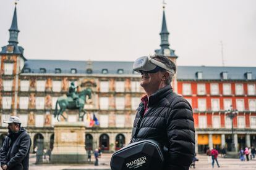
<svg viewBox="0 0 256 170">
<path fill-rule="evenodd" d="M 171 86 L 166 86 L 150 96 L 148 110 L 144 116 L 143 113 L 144 105 L 141 102 L 137 108 L 132 136 L 140 121 L 139 131 L 132 142 L 156 140 L 160 146 L 168 148 L 164 169 L 189 169 L 195 153 L 194 119 L 189 102 L 174 93 Z"/>
</svg>

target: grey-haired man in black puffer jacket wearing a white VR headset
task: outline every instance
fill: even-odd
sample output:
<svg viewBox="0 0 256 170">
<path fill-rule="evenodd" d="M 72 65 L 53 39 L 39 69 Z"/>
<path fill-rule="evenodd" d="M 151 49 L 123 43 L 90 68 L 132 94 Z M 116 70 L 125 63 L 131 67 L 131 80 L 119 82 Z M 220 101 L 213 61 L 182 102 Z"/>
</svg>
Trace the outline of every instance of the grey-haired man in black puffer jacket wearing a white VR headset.
<svg viewBox="0 0 256 170">
<path fill-rule="evenodd" d="M 189 102 L 171 87 L 176 65 L 155 55 L 137 59 L 134 70 L 141 73 L 146 95 L 137 108 L 131 142 L 156 140 L 166 150 L 164 169 L 189 169 L 195 155 L 194 119 Z"/>
</svg>

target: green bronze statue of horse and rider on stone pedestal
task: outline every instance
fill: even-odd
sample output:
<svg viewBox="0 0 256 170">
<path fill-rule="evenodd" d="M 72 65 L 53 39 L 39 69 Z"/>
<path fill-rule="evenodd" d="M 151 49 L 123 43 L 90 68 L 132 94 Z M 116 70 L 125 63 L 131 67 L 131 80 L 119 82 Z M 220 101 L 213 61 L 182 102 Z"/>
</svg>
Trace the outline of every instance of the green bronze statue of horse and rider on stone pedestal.
<svg viewBox="0 0 256 170">
<path fill-rule="evenodd" d="M 78 87 L 78 86 L 77 86 Z M 66 109 L 70 110 L 79 110 L 79 121 L 83 121 L 83 116 L 85 115 L 86 111 L 83 109 L 85 103 L 86 103 L 86 97 L 88 96 L 88 99 L 92 99 L 92 89 L 87 88 L 84 89 L 81 92 L 77 92 L 77 87 L 75 87 L 74 82 L 70 83 L 69 92 L 67 92 L 67 95 L 63 95 L 58 98 L 55 110 L 54 110 L 54 118 L 56 118 L 59 121 L 59 115 L 61 115 L 65 121 L 67 121 L 67 118 L 63 115 L 63 112 Z M 59 110 L 58 110 L 59 105 Z"/>
</svg>

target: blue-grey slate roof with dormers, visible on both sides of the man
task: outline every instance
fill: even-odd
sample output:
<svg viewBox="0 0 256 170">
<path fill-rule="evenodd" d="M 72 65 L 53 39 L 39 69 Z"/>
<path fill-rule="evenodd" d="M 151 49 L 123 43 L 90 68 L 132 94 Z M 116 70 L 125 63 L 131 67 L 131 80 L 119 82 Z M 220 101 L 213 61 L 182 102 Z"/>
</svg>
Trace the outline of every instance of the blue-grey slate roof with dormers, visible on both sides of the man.
<svg viewBox="0 0 256 170">
<path fill-rule="evenodd" d="M 92 73 L 101 74 L 107 69 L 108 74 L 117 74 L 117 70 L 122 69 L 123 74 L 132 75 L 132 65 L 134 62 L 118 61 L 72 61 L 72 60 L 27 60 L 22 73 L 26 68 L 30 73 L 40 73 L 40 68 L 44 68 L 46 73 L 55 73 L 55 69 L 61 69 L 61 74 L 70 73 L 71 69 L 76 69 L 77 73 L 86 74 L 87 69 L 92 69 Z M 210 66 L 179 66 L 177 67 L 177 79 L 197 79 L 197 72 L 202 72 L 203 79 L 221 79 L 221 73 L 227 72 L 228 79 L 245 79 L 245 73 L 251 72 L 252 79 L 256 79 L 256 67 L 210 67 Z"/>
</svg>

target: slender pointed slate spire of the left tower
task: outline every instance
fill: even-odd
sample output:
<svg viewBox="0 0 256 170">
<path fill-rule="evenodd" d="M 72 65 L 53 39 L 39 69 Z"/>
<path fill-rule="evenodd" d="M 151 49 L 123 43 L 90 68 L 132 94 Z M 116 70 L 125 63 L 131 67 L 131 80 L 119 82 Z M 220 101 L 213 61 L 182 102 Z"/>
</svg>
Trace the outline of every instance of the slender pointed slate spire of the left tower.
<svg viewBox="0 0 256 170">
<path fill-rule="evenodd" d="M 14 9 L 14 15 L 12 17 L 12 25 L 11 28 L 9 29 L 10 32 L 10 38 L 9 38 L 9 44 L 18 44 L 18 34 L 19 34 L 19 29 L 18 29 L 18 23 L 17 23 L 17 12 L 16 12 L 16 4 L 15 2 L 15 9 Z"/>
</svg>

